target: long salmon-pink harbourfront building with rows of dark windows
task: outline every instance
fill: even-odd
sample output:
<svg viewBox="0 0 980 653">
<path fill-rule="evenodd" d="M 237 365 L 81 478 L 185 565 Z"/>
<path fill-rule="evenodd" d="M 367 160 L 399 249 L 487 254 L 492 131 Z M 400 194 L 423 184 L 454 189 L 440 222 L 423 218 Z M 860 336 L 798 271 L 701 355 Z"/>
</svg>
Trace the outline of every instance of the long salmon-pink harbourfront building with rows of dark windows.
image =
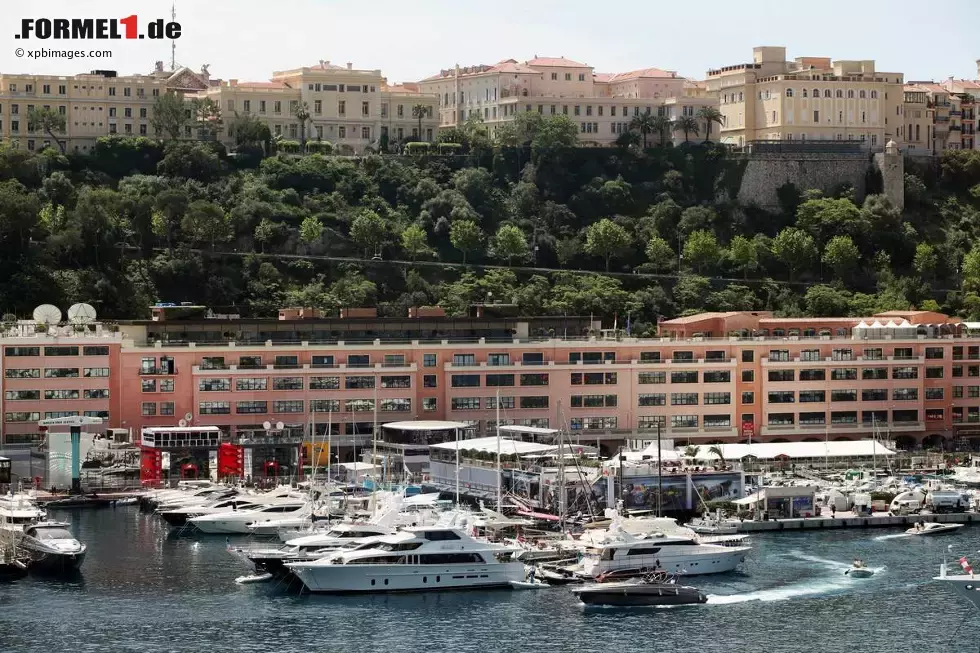
<svg viewBox="0 0 980 653">
<path fill-rule="evenodd" d="M 312 423 L 318 437 L 329 428 L 335 462 L 353 462 L 376 424 L 452 421 L 466 437 L 492 436 L 499 406 L 501 424 L 562 429 L 607 455 L 647 446 L 658 428 L 677 446 L 874 437 L 980 450 L 980 324 L 940 313 L 704 313 L 637 338 L 493 305 L 463 317 L 152 311 L 84 328 L 7 325 L 4 441 L 74 415 L 134 441 L 181 420 L 239 439 L 302 438 Z"/>
</svg>

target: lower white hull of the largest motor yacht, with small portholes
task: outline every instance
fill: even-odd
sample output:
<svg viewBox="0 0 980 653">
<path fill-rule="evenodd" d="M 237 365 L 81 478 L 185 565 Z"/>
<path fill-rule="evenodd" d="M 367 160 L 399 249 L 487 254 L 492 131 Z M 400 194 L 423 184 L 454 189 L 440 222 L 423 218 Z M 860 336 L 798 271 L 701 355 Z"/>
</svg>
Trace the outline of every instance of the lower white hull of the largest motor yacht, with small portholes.
<svg viewBox="0 0 980 653">
<path fill-rule="evenodd" d="M 524 565 L 287 565 L 308 590 L 322 594 L 370 594 L 488 589 L 524 580 Z"/>
</svg>

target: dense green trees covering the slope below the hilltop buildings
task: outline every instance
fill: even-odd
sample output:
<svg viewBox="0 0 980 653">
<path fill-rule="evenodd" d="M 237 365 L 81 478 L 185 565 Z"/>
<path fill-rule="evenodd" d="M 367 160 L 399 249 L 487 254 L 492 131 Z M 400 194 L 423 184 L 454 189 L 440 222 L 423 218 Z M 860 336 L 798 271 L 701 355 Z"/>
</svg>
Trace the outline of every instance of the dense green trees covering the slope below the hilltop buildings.
<svg viewBox="0 0 980 653">
<path fill-rule="evenodd" d="M 443 135 L 453 148 L 364 158 L 263 157 L 263 133 L 232 156 L 123 137 L 84 156 L 0 149 L 0 310 L 490 299 L 629 314 L 634 333 L 702 310 L 980 316 L 980 152 L 909 163 L 904 212 L 791 186 L 764 211 L 733 199 L 743 168 L 719 146 L 576 148 L 576 129 L 538 117 L 491 144 L 466 125 Z"/>
</svg>

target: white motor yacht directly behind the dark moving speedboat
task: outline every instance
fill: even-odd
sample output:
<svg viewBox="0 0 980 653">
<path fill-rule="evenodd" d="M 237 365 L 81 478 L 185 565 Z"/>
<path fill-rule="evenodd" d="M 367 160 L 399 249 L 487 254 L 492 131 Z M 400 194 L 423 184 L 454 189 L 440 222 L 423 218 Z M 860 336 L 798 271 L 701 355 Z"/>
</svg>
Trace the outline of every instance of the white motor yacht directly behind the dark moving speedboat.
<svg viewBox="0 0 980 653">
<path fill-rule="evenodd" d="M 705 542 L 696 535 L 681 533 L 634 535 L 614 525 L 586 548 L 576 571 L 590 577 L 627 570 L 661 570 L 690 576 L 720 574 L 733 571 L 750 550 L 738 543 Z"/>
</svg>

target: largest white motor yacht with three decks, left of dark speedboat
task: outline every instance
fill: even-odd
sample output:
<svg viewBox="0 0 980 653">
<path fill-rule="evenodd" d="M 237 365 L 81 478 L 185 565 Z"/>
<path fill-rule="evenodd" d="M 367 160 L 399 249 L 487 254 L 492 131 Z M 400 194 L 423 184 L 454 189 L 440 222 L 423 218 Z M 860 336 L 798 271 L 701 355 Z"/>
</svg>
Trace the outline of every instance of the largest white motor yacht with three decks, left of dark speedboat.
<svg viewBox="0 0 980 653">
<path fill-rule="evenodd" d="M 377 543 L 310 562 L 287 563 L 311 592 L 421 592 L 510 587 L 524 580 L 513 549 L 457 528 L 413 526 Z"/>
</svg>

